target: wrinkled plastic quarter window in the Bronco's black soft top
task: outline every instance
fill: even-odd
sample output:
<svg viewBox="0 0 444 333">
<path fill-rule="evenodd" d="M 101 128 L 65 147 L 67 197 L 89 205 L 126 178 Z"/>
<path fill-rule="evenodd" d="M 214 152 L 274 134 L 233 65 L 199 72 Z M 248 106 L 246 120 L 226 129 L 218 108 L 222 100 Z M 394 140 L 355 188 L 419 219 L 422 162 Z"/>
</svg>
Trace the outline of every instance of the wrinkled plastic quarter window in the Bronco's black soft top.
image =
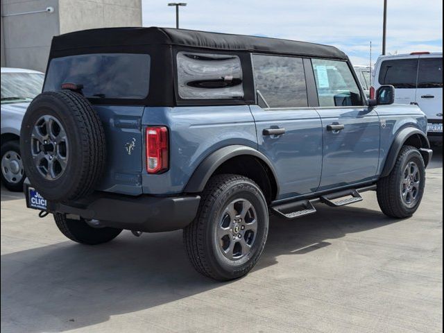
<svg viewBox="0 0 444 333">
<path fill-rule="evenodd" d="M 238 56 L 179 52 L 178 92 L 181 99 L 234 99 L 244 97 Z"/>
</svg>

